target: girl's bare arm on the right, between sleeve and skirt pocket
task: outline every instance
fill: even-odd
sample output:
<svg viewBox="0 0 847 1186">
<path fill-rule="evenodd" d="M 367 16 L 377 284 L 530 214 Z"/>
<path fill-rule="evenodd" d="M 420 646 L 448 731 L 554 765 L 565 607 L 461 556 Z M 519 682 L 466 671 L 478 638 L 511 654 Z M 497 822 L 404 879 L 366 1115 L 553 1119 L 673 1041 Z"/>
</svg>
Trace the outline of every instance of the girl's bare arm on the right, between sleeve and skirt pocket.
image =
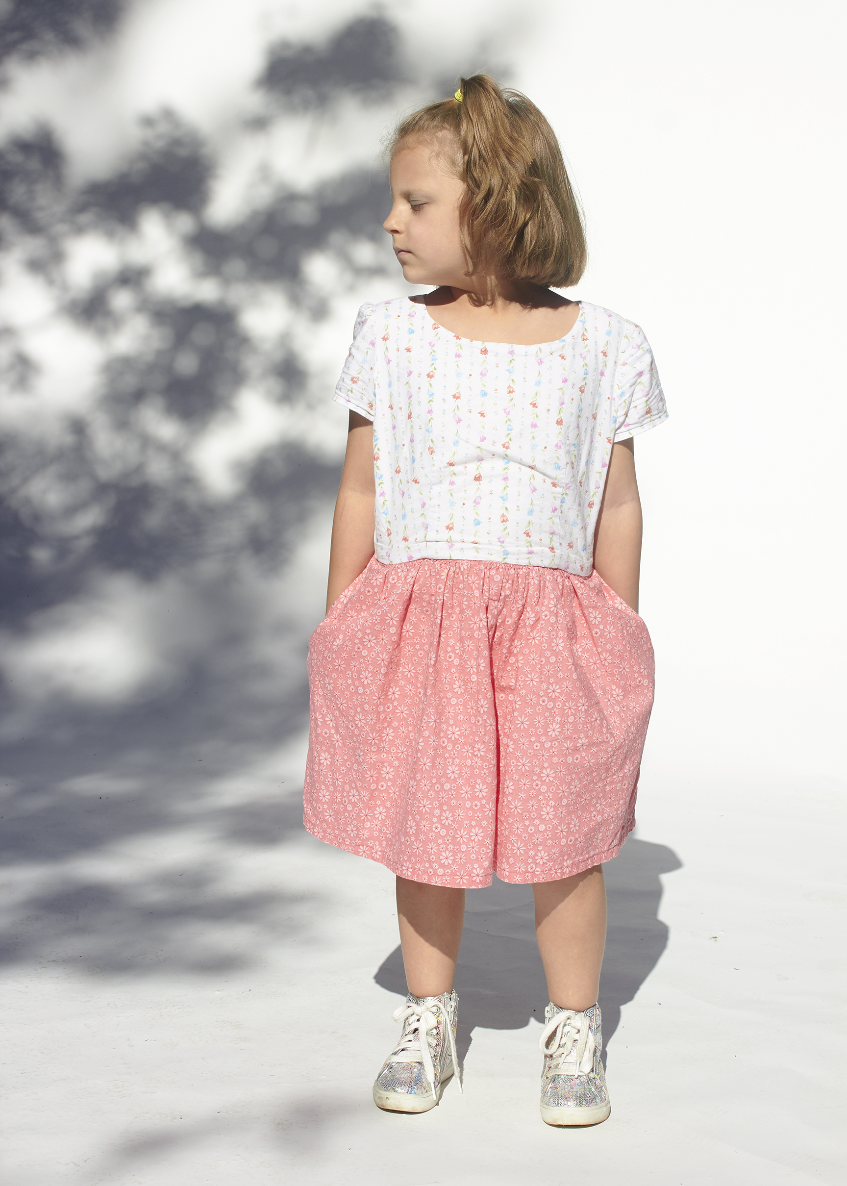
<svg viewBox="0 0 847 1186">
<path fill-rule="evenodd" d="M 641 499 L 632 439 L 612 445 L 606 489 L 594 531 L 594 568 L 618 597 L 638 613 Z"/>
</svg>

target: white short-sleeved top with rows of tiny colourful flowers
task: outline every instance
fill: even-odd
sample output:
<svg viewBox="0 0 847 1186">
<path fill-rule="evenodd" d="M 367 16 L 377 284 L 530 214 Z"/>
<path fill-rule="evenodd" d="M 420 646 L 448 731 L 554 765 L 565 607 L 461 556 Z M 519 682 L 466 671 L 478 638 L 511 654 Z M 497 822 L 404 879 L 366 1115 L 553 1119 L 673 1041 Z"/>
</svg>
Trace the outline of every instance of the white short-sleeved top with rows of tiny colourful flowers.
<svg viewBox="0 0 847 1186">
<path fill-rule="evenodd" d="M 641 327 L 579 304 L 531 346 L 460 338 L 408 298 L 361 307 L 335 398 L 374 422 L 377 560 L 591 574 L 612 445 L 668 413 Z"/>
</svg>

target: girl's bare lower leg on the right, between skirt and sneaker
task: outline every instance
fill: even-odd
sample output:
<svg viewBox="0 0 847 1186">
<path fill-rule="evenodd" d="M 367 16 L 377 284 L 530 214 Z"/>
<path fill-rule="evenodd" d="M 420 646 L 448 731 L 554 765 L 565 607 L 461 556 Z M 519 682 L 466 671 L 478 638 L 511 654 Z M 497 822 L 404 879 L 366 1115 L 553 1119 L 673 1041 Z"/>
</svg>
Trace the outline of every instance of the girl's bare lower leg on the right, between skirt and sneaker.
<svg viewBox="0 0 847 1186">
<path fill-rule="evenodd" d="M 603 866 L 560 881 L 540 881 L 535 933 L 550 1001 L 561 1009 L 597 1003 L 606 945 L 606 887 Z"/>
</svg>

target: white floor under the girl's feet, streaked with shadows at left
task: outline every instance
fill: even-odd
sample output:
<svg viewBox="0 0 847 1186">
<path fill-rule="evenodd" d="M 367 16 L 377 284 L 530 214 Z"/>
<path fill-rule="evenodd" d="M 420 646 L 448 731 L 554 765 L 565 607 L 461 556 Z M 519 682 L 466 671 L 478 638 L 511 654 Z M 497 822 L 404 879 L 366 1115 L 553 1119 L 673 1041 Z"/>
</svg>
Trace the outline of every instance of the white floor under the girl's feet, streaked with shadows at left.
<svg viewBox="0 0 847 1186">
<path fill-rule="evenodd" d="M 5 812 L 5 1186 L 845 1180 L 842 788 L 647 763 L 607 866 L 612 1115 L 562 1131 L 537 1112 L 521 886 L 469 893 L 464 1096 L 372 1105 L 403 991 L 393 882 L 302 833 L 304 746 L 179 793 L 56 778 Z"/>
</svg>

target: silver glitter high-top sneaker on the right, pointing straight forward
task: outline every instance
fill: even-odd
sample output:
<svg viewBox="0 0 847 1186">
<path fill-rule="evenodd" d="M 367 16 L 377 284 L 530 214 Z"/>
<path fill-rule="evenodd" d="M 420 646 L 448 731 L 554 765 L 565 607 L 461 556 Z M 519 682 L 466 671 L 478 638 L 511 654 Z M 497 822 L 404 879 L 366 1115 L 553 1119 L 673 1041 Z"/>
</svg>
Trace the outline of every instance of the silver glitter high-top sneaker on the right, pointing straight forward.
<svg viewBox="0 0 847 1186">
<path fill-rule="evenodd" d="M 567 1127 L 599 1124 L 612 1110 L 600 1061 L 600 1006 L 580 1013 L 560 1009 L 550 1001 L 544 1021 L 539 1041 L 544 1056 L 541 1118 Z"/>
</svg>

